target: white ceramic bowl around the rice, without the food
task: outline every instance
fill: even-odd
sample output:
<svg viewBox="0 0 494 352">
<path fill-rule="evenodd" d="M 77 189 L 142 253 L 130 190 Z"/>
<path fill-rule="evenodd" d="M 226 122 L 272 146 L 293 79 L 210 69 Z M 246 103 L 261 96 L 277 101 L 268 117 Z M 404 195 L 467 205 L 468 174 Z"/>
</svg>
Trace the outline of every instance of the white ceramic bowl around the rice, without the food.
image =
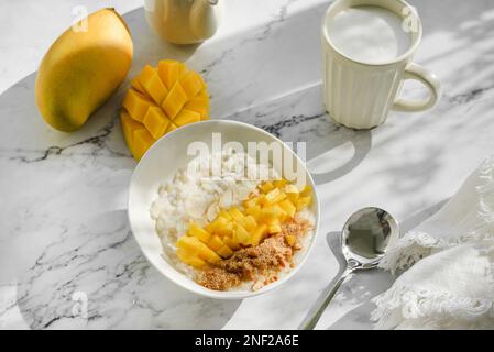
<svg viewBox="0 0 494 352">
<path fill-rule="evenodd" d="M 213 132 L 221 132 L 222 144 L 231 141 L 240 142 L 244 146 L 246 146 L 246 143 L 251 141 L 281 143 L 284 151 L 289 153 L 287 155 L 292 155 L 295 163 L 297 163 L 298 175 L 305 174 L 306 183 L 309 184 L 312 189 L 316 189 L 314 180 L 307 172 L 304 163 L 288 146 L 272 134 L 251 124 L 235 121 L 212 120 L 193 123 L 179 128 L 160 139 L 144 154 L 135 167 L 129 190 L 128 212 L 130 227 L 134 234 L 135 241 L 141 246 L 145 257 L 154 265 L 154 267 L 157 268 L 160 273 L 185 289 L 202 296 L 220 299 L 239 299 L 260 295 L 283 285 L 286 280 L 288 280 L 288 278 L 293 277 L 309 255 L 310 248 L 316 241 L 316 235 L 319 229 L 319 200 L 316 191 L 314 193 L 314 201 L 311 205 L 311 211 L 314 212 L 316 223 L 312 239 L 309 242 L 309 248 L 305 251 L 305 253 L 300 253 L 303 257 L 298 258 L 299 264 L 296 267 L 292 268 L 286 275 L 283 275 L 276 282 L 268 284 L 256 292 L 211 290 L 200 286 L 177 271 L 171 260 L 163 257 L 163 249 L 154 228 L 154 220 L 150 217 L 151 204 L 157 197 L 158 186 L 164 180 L 171 179 L 173 174 L 178 168 L 185 167 L 189 160 L 193 158 L 193 156 L 187 156 L 186 151 L 188 144 L 194 141 L 202 141 L 211 146 L 211 134 Z M 276 168 L 275 165 L 274 167 Z"/>
</svg>

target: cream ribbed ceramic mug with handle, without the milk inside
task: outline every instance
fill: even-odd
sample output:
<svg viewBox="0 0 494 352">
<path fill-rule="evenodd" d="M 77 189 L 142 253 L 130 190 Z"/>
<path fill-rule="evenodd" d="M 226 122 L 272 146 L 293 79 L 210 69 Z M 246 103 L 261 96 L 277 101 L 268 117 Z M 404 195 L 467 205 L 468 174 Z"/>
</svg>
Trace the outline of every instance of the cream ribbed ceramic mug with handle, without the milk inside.
<svg viewBox="0 0 494 352">
<path fill-rule="evenodd" d="M 408 50 L 383 63 L 365 63 L 344 55 L 331 42 L 328 21 L 340 11 L 359 6 L 375 6 L 389 10 L 414 24 Z M 411 62 L 420 44 L 420 19 L 402 0 L 337 0 L 327 10 L 322 22 L 325 106 L 329 116 L 352 129 L 372 129 L 386 121 L 391 109 L 421 111 L 432 107 L 440 96 L 436 75 Z M 424 100 L 397 98 L 405 79 L 416 79 L 429 90 Z"/>
</svg>

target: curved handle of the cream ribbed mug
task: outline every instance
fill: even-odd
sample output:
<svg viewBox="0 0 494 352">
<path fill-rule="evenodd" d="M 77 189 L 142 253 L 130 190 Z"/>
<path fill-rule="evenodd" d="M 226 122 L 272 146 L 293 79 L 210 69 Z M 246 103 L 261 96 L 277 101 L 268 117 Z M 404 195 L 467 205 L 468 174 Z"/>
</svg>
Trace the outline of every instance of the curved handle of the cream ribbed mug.
<svg viewBox="0 0 494 352">
<path fill-rule="evenodd" d="M 438 101 L 441 92 L 441 84 L 438 77 L 430 70 L 411 63 L 405 68 L 403 79 L 421 81 L 429 89 L 429 97 L 421 100 L 398 98 L 393 105 L 393 110 L 408 112 L 421 111 L 431 108 Z"/>
</svg>

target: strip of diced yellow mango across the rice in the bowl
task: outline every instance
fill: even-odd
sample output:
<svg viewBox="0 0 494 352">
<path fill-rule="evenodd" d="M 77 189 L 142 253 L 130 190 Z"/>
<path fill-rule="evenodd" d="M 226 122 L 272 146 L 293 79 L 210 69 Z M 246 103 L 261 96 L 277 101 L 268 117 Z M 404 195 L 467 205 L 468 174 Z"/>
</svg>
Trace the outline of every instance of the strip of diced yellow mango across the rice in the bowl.
<svg viewBox="0 0 494 352">
<path fill-rule="evenodd" d="M 127 121 L 129 118 L 124 119 Z M 132 129 L 142 133 L 139 132 L 139 123 L 129 124 L 124 131 L 133 131 Z M 215 264 L 219 258 L 228 258 L 242 248 L 259 245 L 267 237 L 281 233 L 283 223 L 308 207 L 312 200 L 309 186 L 299 191 L 286 179 L 263 182 L 257 185 L 257 190 L 242 201 L 243 207 L 220 210 L 216 219 L 205 228 L 191 223 L 188 235 L 185 237 L 188 239 L 183 237 L 177 242 L 177 256 L 193 267 L 202 267 L 204 261 Z M 295 248 L 297 238 L 285 234 L 285 241 Z"/>
</svg>

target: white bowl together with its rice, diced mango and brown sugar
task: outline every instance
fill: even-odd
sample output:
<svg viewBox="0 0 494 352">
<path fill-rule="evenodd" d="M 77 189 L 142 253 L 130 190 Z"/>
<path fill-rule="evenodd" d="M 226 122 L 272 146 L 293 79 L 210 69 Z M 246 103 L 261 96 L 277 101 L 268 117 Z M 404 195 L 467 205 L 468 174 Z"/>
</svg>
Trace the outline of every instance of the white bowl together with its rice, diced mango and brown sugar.
<svg viewBox="0 0 494 352">
<path fill-rule="evenodd" d="M 279 163 L 248 153 L 227 153 L 216 164 L 212 152 L 187 155 L 191 142 L 211 146 L 215 133 L 222 144 L 277 143 L 296 165 L 296 179 L 284 178 Z M 221 166 L 221 177 L 205 177 L 208 167 L 190 174 L 201 163 Z M 256 176 L 243 177 L 239 165 Z M 282 285 L 307 257 L 319 224 L 314 187 L 303 162 L 272 134 L 240 122 L 199 122 L 157 141 L 141 160 L 129 220 L 146 258 L 171 280 L 212 298 L 244 298 Z"/>
</svg>

